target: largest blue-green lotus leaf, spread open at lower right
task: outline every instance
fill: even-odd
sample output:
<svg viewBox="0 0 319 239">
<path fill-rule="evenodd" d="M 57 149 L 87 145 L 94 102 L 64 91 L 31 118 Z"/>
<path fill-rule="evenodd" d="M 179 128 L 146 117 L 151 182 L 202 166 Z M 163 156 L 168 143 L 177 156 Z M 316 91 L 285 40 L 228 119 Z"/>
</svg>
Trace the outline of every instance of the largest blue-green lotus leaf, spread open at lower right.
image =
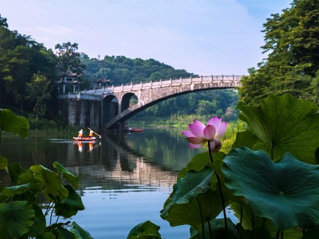
<svg viewBox="0 0 319 239">
<path fill-rule="evenodd" d="M 224 159 L 225 185 L 244 196 L 258 217 L 271 219 L 278 230 L 319 224 L 319 165 L 291 153 L 274 163 L 262 150 L 232 149 Z"/>
</svg>

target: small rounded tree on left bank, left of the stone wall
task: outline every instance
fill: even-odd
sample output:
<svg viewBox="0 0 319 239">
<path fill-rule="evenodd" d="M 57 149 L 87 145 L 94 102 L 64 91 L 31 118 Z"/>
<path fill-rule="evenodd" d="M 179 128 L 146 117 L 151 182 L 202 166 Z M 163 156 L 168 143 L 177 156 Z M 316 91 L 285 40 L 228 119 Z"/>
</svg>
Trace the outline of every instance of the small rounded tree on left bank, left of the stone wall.
<svg viewBox="0 0 319 239">
<path fill-rule="evenodd" d="M 26 83 L 27 100 L 34 103 L 35 120 L 45 116 L 47 103 L 51 99 L 50 81 L 40 73 L 33 74 L 31 82 Z"/>
</svg>

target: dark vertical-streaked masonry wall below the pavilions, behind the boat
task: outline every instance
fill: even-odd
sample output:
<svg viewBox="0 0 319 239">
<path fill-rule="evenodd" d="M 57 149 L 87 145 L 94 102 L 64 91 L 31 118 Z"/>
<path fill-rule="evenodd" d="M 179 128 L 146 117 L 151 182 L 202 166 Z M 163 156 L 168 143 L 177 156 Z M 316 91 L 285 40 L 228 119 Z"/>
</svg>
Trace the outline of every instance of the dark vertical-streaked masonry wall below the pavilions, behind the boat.
<svg viewBox="0 0 319 239">
<path fill-rule="evenodd" d="M 81 125 L 100 130 L 101 101 L 59 99 L 58 116 L 66 124 Z"/>
</svg>

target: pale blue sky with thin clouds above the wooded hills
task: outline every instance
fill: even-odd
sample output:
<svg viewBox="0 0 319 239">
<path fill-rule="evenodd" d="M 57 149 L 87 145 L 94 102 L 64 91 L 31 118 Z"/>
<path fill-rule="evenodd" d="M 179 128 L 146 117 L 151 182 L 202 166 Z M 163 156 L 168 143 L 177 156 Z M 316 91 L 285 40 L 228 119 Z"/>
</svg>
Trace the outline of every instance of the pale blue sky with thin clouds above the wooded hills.
<svg viewBox="0 0 319 239">
<path fill-rule="evenodd" d="M 266 18 L 291 1 L 0 0 L 0 14 L 48 48 L 71 41 L 91 58 L 154 58 L 200 75 L 241 75 L 265 57 Z"/>
</svg>

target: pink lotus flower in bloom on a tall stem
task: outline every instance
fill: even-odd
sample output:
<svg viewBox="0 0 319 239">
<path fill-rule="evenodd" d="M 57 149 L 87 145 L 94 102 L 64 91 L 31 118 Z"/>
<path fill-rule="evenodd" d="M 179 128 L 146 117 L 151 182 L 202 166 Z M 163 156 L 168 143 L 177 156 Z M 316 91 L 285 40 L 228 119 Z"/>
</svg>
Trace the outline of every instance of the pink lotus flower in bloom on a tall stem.
<svg viewBox="0 0 319 239">
<path fill-rule="evenodd" d="M 220 137 L 225 134 L 227 122 L 214 116 L 208 120 L 207 125 L 194 119 L 194 123 L 188 124 L 188 127 L 189 130 L 182 131 L 182 134 L 186 136 L 190 148 L 200 148 L 209 140 L 210 150 L 217 152 L 221 148 Z"/>
</svg>

